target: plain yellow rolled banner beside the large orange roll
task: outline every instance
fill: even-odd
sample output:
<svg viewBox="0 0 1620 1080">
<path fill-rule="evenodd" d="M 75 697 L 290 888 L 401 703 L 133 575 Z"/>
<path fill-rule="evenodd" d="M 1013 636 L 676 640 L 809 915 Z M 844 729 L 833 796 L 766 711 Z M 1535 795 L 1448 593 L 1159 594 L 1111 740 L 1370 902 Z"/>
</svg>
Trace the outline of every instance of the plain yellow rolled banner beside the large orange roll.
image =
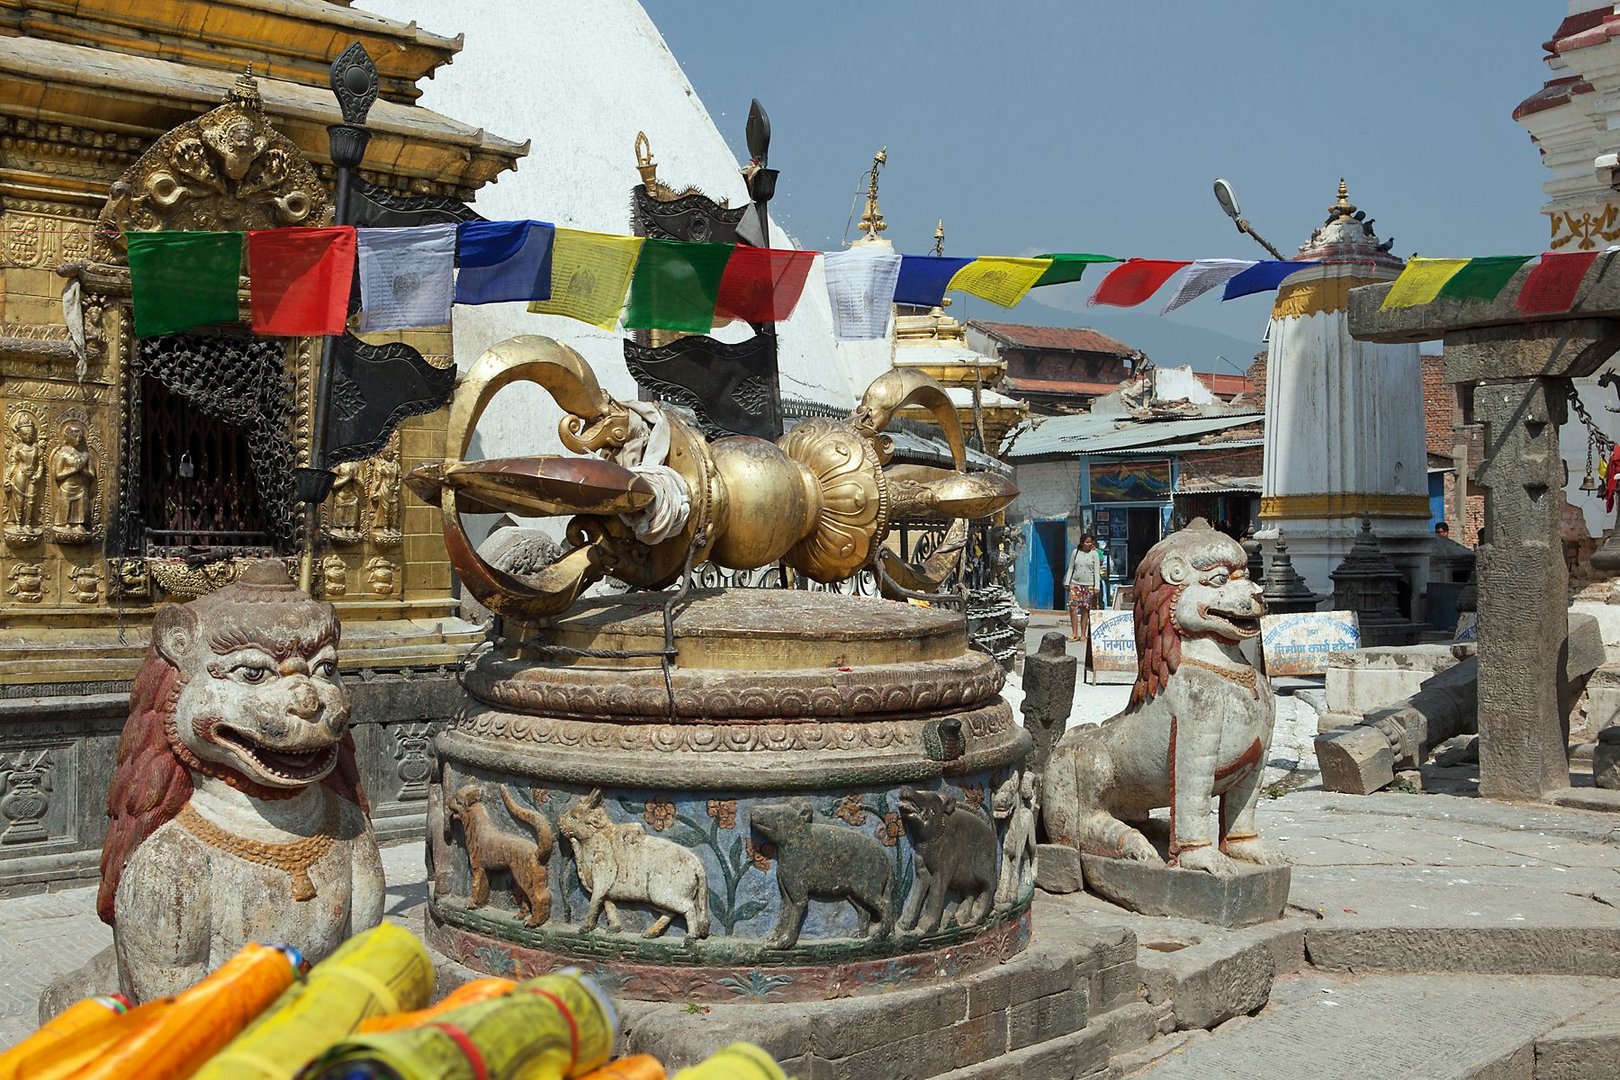
<svg viewBox="0 0 1620 1080">
<path fill-rule="evenodd" d="M 292 1080 L 361 1023 L 421 1009 L 433 997 L 433 960 L 416 934 L 379 923 L 309 970 L 194 1080 Z"/>
</svg>

